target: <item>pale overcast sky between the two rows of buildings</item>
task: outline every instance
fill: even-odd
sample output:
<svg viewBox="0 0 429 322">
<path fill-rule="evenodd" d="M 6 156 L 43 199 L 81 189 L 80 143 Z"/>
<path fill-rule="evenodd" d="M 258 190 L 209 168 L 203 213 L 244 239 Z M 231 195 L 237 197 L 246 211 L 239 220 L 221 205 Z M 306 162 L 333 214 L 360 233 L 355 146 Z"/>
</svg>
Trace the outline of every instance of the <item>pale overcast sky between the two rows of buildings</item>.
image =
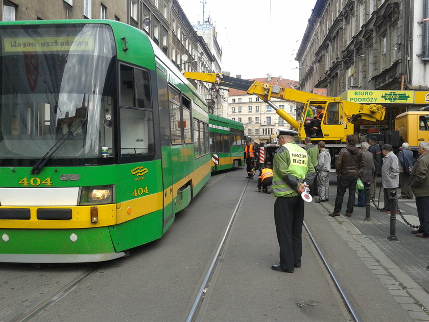
<svg viewBox="0 0 429 322">
<path fill-rule="evenodd" d="M 316 0 L 178 0 L 191 23 L 210 21 L 231 76 L 298 80 L 295 60 Z"/>
</svg>

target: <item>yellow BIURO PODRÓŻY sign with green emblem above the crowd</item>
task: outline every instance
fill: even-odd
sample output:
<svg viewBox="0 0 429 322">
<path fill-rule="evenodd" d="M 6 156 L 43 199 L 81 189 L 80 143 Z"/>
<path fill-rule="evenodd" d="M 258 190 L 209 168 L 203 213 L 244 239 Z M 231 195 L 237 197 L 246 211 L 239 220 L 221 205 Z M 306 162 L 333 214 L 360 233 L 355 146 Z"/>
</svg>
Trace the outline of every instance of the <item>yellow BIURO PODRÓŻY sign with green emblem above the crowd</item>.
<svg viewBox="0 0 429 322">
<path fill-rule="evenodd" d="M 412 90 L 348 90 L 347 101 L 364 104 L 414 103 Z"/>
</svg>

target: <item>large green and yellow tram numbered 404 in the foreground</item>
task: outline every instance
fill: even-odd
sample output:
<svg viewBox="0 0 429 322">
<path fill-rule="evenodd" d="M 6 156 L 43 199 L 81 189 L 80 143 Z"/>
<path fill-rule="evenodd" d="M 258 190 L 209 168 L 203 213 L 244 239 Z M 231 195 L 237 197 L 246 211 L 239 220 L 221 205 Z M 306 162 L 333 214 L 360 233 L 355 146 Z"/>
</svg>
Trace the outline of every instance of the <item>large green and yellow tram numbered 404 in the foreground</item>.
<svg viewBox="0 0 429 322">
<path fill-rule="evenodd" d="M 144 31 L 0 23 L 0 262 L 97 262 L 160 238 L 210 177 L 207 106 Z"/>
</svg>

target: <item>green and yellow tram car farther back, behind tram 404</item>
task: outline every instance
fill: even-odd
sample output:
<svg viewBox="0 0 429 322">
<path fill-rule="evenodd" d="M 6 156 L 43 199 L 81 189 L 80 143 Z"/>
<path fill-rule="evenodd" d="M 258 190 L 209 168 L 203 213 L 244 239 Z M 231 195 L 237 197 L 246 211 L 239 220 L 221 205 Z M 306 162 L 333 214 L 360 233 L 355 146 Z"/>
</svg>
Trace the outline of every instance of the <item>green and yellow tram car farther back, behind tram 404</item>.
<svg viewBox="0 0 429 322">
<path fill-rule="evenodd" d="M 235 169 L 244 164 L 243 123 L 209 114 L 211 171 Z"/>
</svg>

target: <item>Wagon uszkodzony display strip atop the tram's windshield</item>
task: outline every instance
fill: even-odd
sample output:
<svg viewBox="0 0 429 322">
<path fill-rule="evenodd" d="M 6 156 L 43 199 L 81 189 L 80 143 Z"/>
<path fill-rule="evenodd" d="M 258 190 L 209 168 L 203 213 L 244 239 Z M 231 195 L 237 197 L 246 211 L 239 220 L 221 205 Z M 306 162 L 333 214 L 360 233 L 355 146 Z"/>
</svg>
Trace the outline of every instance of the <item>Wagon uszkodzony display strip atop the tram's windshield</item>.
<svg viewBox="0 0 429 322">
<path fill-rule="evenodd" d="M 40 52 L 93 50 L 94 38 L 82 37 L 15 37 L 4 38 L 5 52 Z"/>
</svg>

